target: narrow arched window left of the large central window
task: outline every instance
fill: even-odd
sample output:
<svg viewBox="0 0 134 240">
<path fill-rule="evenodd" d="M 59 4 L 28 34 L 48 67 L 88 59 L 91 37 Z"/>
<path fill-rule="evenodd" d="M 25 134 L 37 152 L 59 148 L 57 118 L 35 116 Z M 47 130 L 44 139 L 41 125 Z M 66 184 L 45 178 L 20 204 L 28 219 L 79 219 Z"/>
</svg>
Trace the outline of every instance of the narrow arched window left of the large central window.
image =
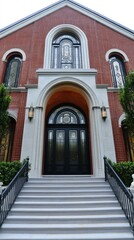
<svg viewBox="0 0 134 240">
<path fill-rule="evenodd" d="M 19 54 L 11 55 L 7 59 L 4 83 L 6 87 L 17 87 L 22 57 Z"/>
</svg>

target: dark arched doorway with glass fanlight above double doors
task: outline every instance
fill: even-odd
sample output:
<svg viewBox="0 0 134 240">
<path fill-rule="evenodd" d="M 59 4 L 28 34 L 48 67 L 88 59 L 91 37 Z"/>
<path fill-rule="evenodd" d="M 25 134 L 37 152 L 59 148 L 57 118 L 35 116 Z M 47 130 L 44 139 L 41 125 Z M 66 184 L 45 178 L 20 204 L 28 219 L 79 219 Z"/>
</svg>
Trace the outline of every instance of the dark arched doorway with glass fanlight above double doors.
<svg viewBox="0 0 134 240">
<path fill-rule="evenodd" d="M 46 127 L 45 174 L 88 174 L 87 121 L 76 107 L 57 107 Z"/>
</svg>

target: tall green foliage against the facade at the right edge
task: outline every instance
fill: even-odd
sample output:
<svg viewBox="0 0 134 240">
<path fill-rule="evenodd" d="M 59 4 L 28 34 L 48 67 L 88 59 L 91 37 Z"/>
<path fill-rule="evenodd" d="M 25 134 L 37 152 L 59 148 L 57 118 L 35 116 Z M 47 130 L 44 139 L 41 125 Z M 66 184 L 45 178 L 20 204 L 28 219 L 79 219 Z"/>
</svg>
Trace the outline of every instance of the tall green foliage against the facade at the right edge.
<svg viewBox="0 0 134 240">
<path fill-rule="evenodd" d="M 134 136 L 134 71 L 127 75 L 125 86 L 120 89 L 119 98 L 126 115 L 125 124 Z"/>
</svg>

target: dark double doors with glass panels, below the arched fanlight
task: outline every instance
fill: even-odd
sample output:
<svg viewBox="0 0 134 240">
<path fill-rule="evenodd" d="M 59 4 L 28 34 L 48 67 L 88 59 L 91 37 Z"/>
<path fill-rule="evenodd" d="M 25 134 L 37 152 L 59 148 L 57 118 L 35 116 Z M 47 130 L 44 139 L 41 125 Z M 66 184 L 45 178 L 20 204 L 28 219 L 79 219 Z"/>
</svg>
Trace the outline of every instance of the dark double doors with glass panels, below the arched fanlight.
<svg viewBox="0 0 134 240">
<path fill-rule="evenodd" d="M 55 126 L 47 129 L 46 174 L 89 173 L 87 129 Z"/>
</svg>

